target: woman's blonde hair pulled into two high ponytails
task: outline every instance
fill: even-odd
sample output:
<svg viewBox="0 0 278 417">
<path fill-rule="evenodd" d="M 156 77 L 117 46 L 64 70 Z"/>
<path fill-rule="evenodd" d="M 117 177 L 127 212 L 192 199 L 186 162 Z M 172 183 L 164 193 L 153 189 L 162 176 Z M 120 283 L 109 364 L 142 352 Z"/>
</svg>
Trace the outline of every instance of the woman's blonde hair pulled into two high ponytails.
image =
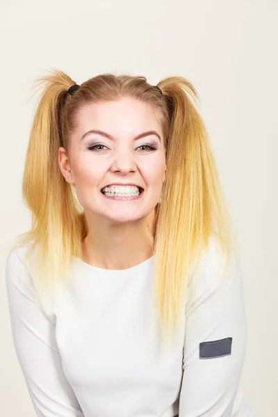
<svg viewBox="0 0 278 417">
<path fill-rule="evenodd" d="M 192 83 L 170 76 L 158 83 L 163 95 L 145 76 L 100 74 L 82 83 L 62 71 L 49 71 L 35 81 L 43 87 L 26 152 L 22 193 L 32 213 L 31 230 L 17 237 L 17 247 L 36 249 L 33 281 L 38 302 L 42 292 L 55 293 L 57 282 L 67 281 L 72 256 L 81 258 L 88 234 L 85 216 L 58 166 L 58 148 L 69 149 L 76 111 L 93 101 L 127 95 L 152 104 L 160 117 L 165 140 L 167 171 L 154 227 L 156 318 L 163 333 L 181 324 L 186 310 L 193 265 L 216 238 L 231 259 L 231 227 L 215 157 L 206 127 L 197 110 L 199 99 Z M 52 304 L 53 305 L 53 304 Z"/>
</svg>

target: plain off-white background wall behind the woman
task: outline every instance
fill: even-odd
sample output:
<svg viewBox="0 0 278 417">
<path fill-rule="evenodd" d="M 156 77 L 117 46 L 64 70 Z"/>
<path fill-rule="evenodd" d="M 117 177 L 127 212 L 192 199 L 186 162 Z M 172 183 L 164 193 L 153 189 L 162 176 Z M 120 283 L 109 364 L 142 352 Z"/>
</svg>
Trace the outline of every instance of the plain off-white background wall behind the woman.
<svg viewBox="0 0 278 417">
<path fill-rule="evenodd" d="M 277 417 L 277 21 L 275 0 L 1 1 L 0 414 L 33 417 L 15 356 L 3 272 L 26 231 L 22 172 L 32 80 L 53 68 L 189 79 L 211 136 L 238 236 L 247 350 L 241 385 L 256 417 Z M 276 301 L 276 303 L 275 303 Z"/>
</svg>

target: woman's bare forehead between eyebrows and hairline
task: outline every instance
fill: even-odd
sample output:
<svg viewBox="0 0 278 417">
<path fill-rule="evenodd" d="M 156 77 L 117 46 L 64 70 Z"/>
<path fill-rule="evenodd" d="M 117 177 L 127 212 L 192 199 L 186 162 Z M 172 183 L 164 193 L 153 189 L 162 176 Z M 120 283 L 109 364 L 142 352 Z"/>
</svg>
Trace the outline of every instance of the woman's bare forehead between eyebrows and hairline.
<svg viewBox="0 0 278 417">
<path fill-rule="evenodd" d="M 115 131 L 141 131 L 161 129 L 158 112 L 152 104 L 133 97 L 121 97 L 113 101 L 85 104 L 76 114 L 76 128 L 112 129 Z"/>
</svg>

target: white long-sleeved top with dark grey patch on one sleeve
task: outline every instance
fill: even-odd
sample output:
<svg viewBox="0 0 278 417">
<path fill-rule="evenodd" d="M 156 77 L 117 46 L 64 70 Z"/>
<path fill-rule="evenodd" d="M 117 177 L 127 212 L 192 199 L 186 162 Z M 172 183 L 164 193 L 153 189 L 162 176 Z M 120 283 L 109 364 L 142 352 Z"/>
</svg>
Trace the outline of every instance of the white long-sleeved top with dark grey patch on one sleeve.
<svg viewBox="0 0 278 417">
<path fill-rule="evenodd" d="M 152 337 L 154 256 L 125 270 L 74 258 L 69 291 L 57 295 L 49 316 L 35 303 L 30 273 L 24 277 L 26 249 L 9 254 L 6 288 L 13 342 L 37 416 L 253 416 L 238 388 L 246 343 L 243 278 L 234 263 L 224 285 L 212 240 L 190 284 L 184 332 L 166 353 Z M 221 340 L 228 338 L 231 350 L 223 354 L 230 339 Z M 215 344 L 202 350 L 208 341 Z"/>
</svg>

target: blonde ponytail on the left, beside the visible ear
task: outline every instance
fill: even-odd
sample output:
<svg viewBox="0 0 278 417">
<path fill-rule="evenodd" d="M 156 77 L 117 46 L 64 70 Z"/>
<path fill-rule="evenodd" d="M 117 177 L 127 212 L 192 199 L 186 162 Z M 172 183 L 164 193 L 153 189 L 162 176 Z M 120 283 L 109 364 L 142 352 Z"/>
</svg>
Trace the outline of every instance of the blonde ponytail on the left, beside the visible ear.
<svg viewBox="0 0 278 417">
<path fill-rule="evenodd" d="M 73 84 L 59 71 L 35 82 L 43 92 L 31 127 L 22 179 L 23 201 L 32 213 L 32 227 L 19 236 L 15 246 L 28 245 L 26 263 L 30 270 L 34 268 L 35 296 L 40 304 L 42 297 L 54 295 L 58 281 L 65 281 L 72 254 L 81 256 L 80 242 L 85 234 L 84 215 L 58 165 L 58 149 L 65 146 L 60 117 L 65 102 L 71 99 L 67 90 Z M 31 263 L 33 251 L 35 262 Z M 45 304 L 44 309 L 50 313 L 54 298 L 48 301 L 51 304 Z"/>
</svg>

